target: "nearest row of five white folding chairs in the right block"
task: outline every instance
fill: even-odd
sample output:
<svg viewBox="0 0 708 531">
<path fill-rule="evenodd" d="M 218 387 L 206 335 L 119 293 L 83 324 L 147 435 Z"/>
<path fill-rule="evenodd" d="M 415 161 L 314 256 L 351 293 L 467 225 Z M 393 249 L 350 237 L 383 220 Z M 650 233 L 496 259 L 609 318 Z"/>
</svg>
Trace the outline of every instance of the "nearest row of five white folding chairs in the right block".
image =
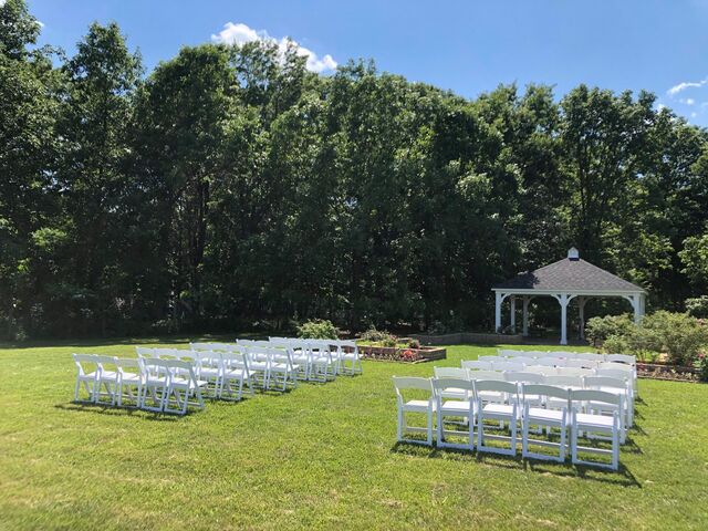
<svg viewBox="0 0 708 531">
<path fill-rule="evenodd" d="M 565 460 L 568 430 L 573 464 L 607 467 L 613 470 L 620 464 L 623 396 L 596 389 L 571 389 L 566 387 L 525 384 L 498 379 L 420 378 L 396 377 L 394 386 L 398 405 L 397 437 L 403 442 L 433 445 L 434 416 L 437 419 L 436 438 L 439 447 L 456 447 L 479 452 L 489 451 L 503 455 L 517 454 L 518 425 L 521 424 L 521 452 L 524 458 Z M 425 399 L 407 399 L 406 389 L 426 393 Z M 448 389 L 461 389 L 464 399 L 446 399 Z M 426 427 L 408 426 L 406 413 L 427 415 Z M 462 418 L 467 429 L 447 429 L 446 417 Z M 510 435 L 490 435 L 490 420 L 498 427 L 509 426 Z M 546 433 L 554 430 L 560 442 L 550 439 L 532 439 L 531 426 Z M 477 428 L 477 429 L 475 429 Z M 487 430 L 487 431 L 486 431 Z M 425 433 L 426 440 L 404 438 L 406 433 Z M 538 431 L 537 431 L 538 433 Z M 580 437 L 602 438 L 612 442 L 612 449 L 596 446 L 581 446 Z M 450 442 L 448 437 L 465 437 L 466 444 Z M 476 439 L 476 444 L 475 444 Z M 504 440 L 507 448 L 489 446 L 488 439 Z M 558 456 L 532 451 L 529 446 L 538 445 L 558 449 Z M 579 452 L 611 456 L 610 464 L 585 461 Z"/>
</svg>

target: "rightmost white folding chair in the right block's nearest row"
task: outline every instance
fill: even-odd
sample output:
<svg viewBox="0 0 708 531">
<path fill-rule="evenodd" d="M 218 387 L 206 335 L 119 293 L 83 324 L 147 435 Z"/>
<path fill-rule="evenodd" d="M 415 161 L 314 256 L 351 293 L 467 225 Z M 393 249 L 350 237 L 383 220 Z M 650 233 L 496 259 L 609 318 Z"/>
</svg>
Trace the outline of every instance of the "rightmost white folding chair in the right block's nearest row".
<svg viewBox="0 0 708 531">
<path fill-rule="evenodd" d="M 615 410 L 612 416 L 584 412 L 587 403 L 615 406 L 617 410 Z M 571 455 L 573 465 L 590 465 L 617 470 L 620 468 L 620 437 L 622 421 L 622 414 L 620 412 L 622 410 L 622 396 L 612 393 L 604 393 L 602 391 L 571 391 L 570 404 Z M 581 431 L 591 437 L 593 435 L 607 437 L 612 441 L 612 449 L 607 450 L 597 447 L 580 446 L 579 436 Z M 579 457 L 579 450 L 589 454 L 610 455 L 611 462 L 607 465 L 597 461 L 582 460 Z"/>
</svg>

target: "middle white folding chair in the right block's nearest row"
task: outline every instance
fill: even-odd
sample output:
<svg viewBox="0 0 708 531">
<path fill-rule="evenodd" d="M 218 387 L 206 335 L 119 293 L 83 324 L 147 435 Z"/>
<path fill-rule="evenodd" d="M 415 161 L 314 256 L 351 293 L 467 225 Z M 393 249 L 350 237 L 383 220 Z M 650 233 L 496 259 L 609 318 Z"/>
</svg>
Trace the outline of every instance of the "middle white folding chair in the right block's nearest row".
<svg viewBox="0 0 708 531">
<path fill-rule="evenodd" d="M 482 393 L 487 393 L 486 399 L 482 399 Z M 517 423 L 521 419 L 517 384 L 493 379 L 478 379 L 475 382 L 475 394 L 477 396 L 477 451 L 516 456 Z M 485 435 L 485 419 L 498 421 L 500 428 L 504 426 L 504 423 L 509 424 L 510 436 Z M 485 444 L 486 438 L 508 440 L 510 447 L 488 446 Z"/>
</svg>

